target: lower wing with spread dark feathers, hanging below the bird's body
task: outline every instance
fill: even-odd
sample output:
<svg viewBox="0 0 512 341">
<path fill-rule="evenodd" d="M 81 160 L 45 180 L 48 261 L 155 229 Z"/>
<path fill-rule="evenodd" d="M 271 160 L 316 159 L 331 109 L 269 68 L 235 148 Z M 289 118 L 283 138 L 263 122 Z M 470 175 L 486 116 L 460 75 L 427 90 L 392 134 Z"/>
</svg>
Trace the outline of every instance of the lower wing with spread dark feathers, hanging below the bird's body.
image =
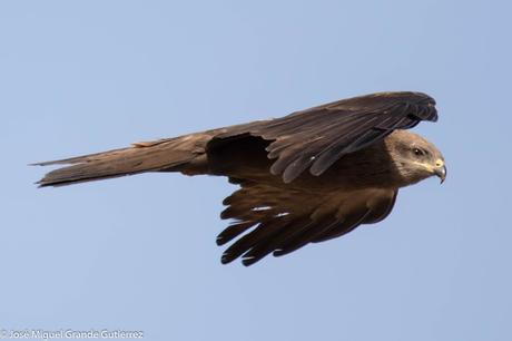
<svg viewBox="0 0 512 341">
<path fill-rule="evenodd" d="M 223 263 L 242 256 L 244 265 L 250 265 L 269 253 L 284 255 L 311 242 L 342 236 L 361 224 L 382 221 L 397 193 L 368 188 L 326 194 L 244 181 L 224 201 L 228 207 L 220 215 L 236 221 L 218 235 L 217 244 L 238 237 L 223 253 Z"/>
</svg>

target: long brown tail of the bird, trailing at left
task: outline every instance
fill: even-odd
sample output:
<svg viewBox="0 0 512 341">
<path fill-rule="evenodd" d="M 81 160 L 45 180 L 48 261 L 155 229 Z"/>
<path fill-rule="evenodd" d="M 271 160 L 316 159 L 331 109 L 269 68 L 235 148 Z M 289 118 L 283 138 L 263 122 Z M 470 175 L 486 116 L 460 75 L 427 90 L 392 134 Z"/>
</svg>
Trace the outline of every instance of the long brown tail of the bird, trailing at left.
<svg viewBox="0 0 512 341">
<path fill-rule="evenodd" d="M 207 134 L 190 134 L 176 138 L 136 143 L 131 147 L 89 154 L 33 165 L 69 165 L 55 169 L 37 184 L 65 186 L 145 172 L 173 170 L 205 153 Z"/>
</svg>

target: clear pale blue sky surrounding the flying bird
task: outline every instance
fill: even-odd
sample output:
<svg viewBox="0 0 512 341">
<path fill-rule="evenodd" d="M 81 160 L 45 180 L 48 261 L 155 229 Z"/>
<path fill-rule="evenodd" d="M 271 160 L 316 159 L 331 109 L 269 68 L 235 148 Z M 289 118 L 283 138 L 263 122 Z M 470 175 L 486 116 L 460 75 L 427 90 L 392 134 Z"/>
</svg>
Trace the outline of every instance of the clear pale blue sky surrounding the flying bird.
<svg viewBox="0 0 512 341">
<path fill-rule="evenodd" d="M 509 1 L 0 2 L 0 329 L 512 340 Z M 419 90 L 447 181 L 377 225 L 221 265 L 224 178 L 37 189 L 38 160 Z"/>
</svg>

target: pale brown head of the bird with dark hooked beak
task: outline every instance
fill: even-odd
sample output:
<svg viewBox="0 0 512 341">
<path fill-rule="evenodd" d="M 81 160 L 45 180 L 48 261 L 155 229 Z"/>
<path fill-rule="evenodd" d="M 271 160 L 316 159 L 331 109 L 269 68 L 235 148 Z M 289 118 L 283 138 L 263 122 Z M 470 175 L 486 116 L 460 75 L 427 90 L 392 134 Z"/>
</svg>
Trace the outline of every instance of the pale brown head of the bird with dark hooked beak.
<svg viewBox="0 0 512 341">
<path fill-rule="evenodd" d="M 420 135 L 407 130 L 395 130 L 386 138 L 386 146 L 405 186 L 434 175 L 441 179 L 441 183 L 446 178 L 443 155 Z"/>
</svg>

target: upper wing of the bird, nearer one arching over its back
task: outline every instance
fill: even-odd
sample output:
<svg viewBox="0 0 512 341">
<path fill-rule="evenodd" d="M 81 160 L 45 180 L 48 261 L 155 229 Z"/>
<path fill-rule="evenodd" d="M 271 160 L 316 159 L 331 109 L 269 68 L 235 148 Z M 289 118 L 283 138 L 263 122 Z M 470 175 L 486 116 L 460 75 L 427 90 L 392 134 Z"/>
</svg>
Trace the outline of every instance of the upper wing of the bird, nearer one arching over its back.
<svg viewBox="0 0 512 341">
<path fill-rule="evenodd" d="M 288 116 L 228 127 L 214 138 L 238 135 L 273 140 L 270 172 L 285 183 L 309 168 L 321 175 L 343 155 L 362 149 L 394 129 L 408 129 L 421 120 L 437 120 L 435 101 L 421 92 L 380 92 L 343 99 Z"/>
</svg>

